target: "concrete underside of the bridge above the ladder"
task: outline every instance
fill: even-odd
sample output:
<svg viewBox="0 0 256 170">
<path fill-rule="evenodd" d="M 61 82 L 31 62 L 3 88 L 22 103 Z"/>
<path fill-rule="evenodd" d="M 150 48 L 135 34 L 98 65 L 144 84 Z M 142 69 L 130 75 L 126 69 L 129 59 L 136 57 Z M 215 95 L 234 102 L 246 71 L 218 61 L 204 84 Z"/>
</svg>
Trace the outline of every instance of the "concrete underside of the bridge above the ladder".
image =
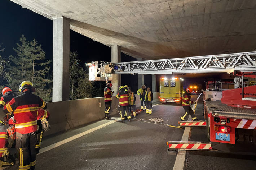
<svg viewBox="0 0 256 170">
<path fill-rule="evenodd" d="M 255 0 L 12 0 L 135 58 L 254 51 Z"/>
</svg>

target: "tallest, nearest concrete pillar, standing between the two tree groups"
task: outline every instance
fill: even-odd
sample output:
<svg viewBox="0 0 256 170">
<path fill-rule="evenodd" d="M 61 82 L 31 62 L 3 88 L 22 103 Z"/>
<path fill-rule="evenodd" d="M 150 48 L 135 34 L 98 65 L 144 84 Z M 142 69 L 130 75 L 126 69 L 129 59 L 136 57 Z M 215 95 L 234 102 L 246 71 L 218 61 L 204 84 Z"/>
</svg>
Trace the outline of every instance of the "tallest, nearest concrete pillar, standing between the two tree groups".
<svg viewBox="0 0 256 170">
<path fill-rule="evenodd" d="M 53 102 L 69 100 L 69 55 L 69 20 L 53 17 Z"/>
</svg>

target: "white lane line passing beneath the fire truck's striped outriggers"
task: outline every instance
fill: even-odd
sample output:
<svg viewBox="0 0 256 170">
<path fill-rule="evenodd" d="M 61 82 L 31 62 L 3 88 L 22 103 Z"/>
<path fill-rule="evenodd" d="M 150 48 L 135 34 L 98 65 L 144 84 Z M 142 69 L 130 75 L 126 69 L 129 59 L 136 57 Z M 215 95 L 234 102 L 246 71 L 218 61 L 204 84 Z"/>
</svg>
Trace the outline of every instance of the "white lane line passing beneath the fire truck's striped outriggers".
<svg viewBox="0 0 256 170">
<path fill-rule="evenodd" d="M 197 100 L 195 102 L 198 102 L 199 97 L 202 95 L 202 93 L 198 96 Z M 195 104 L 192 107 L 192 110 L 195 109 Z M 191 116 L 189 115 L 189 119 L 191 120 Z M 187 141 L 189 140 L 189 132 L 190 132 L 191 127 L 186 127 L 184 130 L 184 133 L 182 135 L 181 141 Z M 178 151 L 176 160 L 173 166 L 173 170 L 183 170 L 184 167 L 184 162 L 185 162 L 185 157 L 186 157 L 186 151 Z"/>
</svg>

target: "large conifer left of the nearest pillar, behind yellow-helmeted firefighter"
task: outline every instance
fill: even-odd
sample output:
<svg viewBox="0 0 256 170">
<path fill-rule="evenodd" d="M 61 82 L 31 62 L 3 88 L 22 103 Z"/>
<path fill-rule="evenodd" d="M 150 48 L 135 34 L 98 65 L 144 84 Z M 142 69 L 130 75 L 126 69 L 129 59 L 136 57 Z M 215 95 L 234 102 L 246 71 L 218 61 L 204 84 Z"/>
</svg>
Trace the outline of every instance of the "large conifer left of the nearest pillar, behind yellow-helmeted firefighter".
<svg viewBox="0 0 256 170">
<path fill-rule="evenodd" d="M 51 61 L 45 61 L 45 52 L 34 39 L 28 42 L 24 35 L 20 38 L 17 49 L 13 50 L 17 56 L 10 56 L 8 83 L 13 91 L 18 92 L 19 84 L 25 80 L 31 81 L 36 88 L 36 94 L 45 101 L 51 101 L 52 80 L 48 74 Z"/>
</svg>

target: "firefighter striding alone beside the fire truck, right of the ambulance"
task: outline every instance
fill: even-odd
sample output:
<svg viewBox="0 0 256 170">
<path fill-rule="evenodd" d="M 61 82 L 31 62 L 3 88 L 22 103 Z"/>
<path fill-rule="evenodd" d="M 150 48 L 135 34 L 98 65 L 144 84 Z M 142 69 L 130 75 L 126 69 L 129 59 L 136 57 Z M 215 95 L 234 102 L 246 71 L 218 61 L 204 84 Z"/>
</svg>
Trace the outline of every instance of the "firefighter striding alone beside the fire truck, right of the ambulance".
<svg viewBox="0 0 256 170">
<path fill-rule="evenodd" d="M 183 94 L 182 97 L 182 106 L 185 110 L 185 114 L 180 118 L 181 120 L 185 120 L 188 114 L 191 115 L 192 121 L 198 120 L 197 117 L 194 115 L 194 111 L 191 109 L 190 104 L 193 104 L 195 102 L 191 101 L 190 98 L 190 93 L 192 92 L 192 88 L 187 88 L 186 92 Z"/>
</svg>

